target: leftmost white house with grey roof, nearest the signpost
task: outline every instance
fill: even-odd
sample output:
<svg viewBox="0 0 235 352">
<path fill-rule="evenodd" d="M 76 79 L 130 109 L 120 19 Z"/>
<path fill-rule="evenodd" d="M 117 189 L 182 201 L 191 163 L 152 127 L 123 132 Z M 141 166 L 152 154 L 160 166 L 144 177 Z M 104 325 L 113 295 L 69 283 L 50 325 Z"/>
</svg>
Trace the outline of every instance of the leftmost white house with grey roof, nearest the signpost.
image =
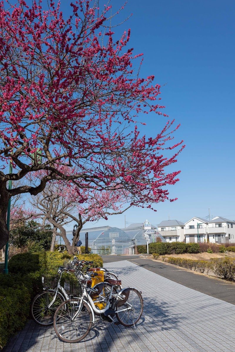
<svg viewBox="0 0 235 352">
<path fill-rule="evenodd" d="M 183 242 L 185 240 L 184 226 L 184 223 L 178 220 L 164 220 L 158 225 L 158 232 L 167 242 Z"/>
</svg>

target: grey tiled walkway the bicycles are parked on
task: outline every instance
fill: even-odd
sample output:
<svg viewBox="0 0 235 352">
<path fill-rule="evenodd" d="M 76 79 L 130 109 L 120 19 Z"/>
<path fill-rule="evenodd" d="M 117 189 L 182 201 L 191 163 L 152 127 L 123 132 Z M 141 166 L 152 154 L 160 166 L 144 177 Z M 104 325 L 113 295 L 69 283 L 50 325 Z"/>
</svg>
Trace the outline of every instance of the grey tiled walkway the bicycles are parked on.
<svg viewBox="0 0 235 352">
<path fill-rule="evenodd" d="M 29 321 L 4 352 L 235 352 L 235 306 L 123 260 L 105 264 L 123 286 L 142 291 L 136 329 L 97 320 L 78 344 L 61 342 L 53 327 Z"/>
</svg>

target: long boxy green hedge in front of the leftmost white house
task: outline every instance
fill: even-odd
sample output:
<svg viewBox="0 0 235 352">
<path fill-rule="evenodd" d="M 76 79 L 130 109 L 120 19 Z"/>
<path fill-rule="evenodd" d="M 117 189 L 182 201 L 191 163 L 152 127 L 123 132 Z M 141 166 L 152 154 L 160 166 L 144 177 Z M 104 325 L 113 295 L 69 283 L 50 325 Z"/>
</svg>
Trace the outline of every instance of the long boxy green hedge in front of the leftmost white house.
<svg viewBox="0 0 235 352">
<path fill-rule="evenodd" d="M 181 254 L 181 253 L 199 253 L 200 247 L 198 243 L 150 243 L 149 254 L 159 253 L 161 256 L 165 254 Z"/>
</svg>

